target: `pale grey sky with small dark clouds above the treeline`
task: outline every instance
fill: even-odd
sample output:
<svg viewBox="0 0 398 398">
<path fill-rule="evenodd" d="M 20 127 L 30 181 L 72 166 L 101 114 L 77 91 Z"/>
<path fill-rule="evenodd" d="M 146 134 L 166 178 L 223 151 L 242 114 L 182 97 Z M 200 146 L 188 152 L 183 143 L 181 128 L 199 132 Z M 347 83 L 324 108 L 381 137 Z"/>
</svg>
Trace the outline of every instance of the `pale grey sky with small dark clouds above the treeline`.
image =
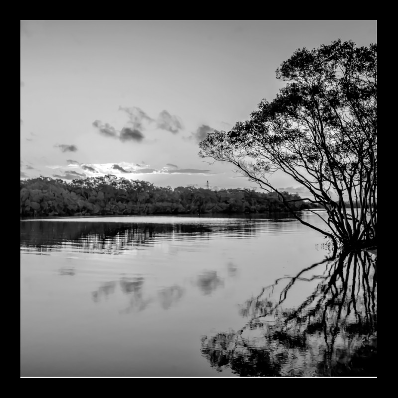
<svg viewBox="0 0 398 398">
<path fill-rule="evenodd" d="M 199 141 L 273 100 L 298 48 L 337 39 L 377 43 L 377 20 L 21 20 L 21 179 L 255 188 Z"/>
</svg>

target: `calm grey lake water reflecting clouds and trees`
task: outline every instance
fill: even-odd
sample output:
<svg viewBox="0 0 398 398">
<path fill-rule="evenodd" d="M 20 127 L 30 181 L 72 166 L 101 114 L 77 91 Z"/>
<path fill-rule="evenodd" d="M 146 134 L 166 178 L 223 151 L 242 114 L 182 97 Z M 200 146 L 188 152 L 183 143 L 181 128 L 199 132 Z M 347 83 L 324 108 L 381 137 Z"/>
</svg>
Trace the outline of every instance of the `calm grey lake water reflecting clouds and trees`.
<svg viewBox="0 0 398 398">
<path fill-rule="evenodd" d="M 314 214 L 304 217 L 319 224 Z M 322 376 L 326 365 L 319 363 L 335 358 L 321 359 L 330 351 L 325 342 L 334 347 L 344 340 L 340 333 L 328 343 L 322 326 L 293 343 L 301 332 L 283 311 L 319 290 L 334 265 L 300 275 L 277 306 L 292 281 L 286 277 L 328 254 L 322 235 L 287 216 L 58 218 L 21 220 L 20 227 L 21 376 Z M 347 268 L 341 264 L 336 267 Z M 371 279 L 370 298 L 343 311 L 347 319 L 355 312 L 352 324 L 361 305 L 377 312 Z M 346 296 L 360 286 L 354 282 Z M 320 294 L 330 292 L 334 288 Z M 272 329 L 281 316 L 284 329 Z M 351 364 L 352 341 L 363 335 L 375 361 L 377 331 L 350 333 L 348 343 L 339 343 L 344 361 Z M 358 376 L 369 376 L 361 366 Z"/>
</svg>

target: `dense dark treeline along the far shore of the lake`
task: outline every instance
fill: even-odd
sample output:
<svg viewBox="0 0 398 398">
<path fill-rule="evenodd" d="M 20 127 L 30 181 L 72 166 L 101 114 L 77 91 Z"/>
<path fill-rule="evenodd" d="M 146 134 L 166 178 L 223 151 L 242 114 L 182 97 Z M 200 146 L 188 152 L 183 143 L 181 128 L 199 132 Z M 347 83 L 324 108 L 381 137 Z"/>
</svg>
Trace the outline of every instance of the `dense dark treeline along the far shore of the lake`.
<svg viewBox="0 0 398 398">
<path fill-rule="evenodd" d="M 155 187 L 112 175 L 73 180 L 36 178 L 21 181 L 21 217 L 110 214 L 264 213 L 286 211 L 276 193 L 249 189 Z M 284 193 L 299 210 L 310 206 L 297 194 Z"/>
</svg>

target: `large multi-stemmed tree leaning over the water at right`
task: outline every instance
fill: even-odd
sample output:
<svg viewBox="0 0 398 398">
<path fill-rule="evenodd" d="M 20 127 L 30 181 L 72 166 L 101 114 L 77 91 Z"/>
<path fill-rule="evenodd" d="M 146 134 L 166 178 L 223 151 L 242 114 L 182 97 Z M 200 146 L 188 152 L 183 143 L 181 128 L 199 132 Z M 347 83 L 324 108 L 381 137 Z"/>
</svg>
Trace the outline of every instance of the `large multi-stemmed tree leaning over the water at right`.
<svg viewBox="0 0 398 398">
<path fill-rule="evenodd" d="M 356 47 L 337 40 L 298 49 L 276 71 L 287 82 L 274 100 L 262 100 L 245 122 L 208 134 L 199 156 L 227 161 L 267 191 L 277 170 L 326 209 L 325 228 L 303 224 L 336 244 L 376 242 L 377 227 L 377 44 Z M 348 202 L 347 205 L 345 202 Z M 358 203 L 358 205 L 357 205 Z"/>
</svg>

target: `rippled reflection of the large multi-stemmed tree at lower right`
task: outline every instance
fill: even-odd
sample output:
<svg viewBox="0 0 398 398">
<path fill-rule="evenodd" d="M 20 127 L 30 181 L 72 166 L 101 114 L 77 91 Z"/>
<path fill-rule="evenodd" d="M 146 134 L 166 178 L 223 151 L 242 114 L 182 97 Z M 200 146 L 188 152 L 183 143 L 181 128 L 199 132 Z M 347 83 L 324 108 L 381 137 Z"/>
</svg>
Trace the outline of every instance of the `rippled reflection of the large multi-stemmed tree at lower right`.
<svg viewBox="0 0 398 398">
<path fill-rule="evenodd" d="M 210 365 L 240 376 L 377 376 L 377 255 L 341 252 L 289 279 L 278 295 L 286 278 L 246 301 L 241 330 L 202 336 Z M 283 307 L 298 281 L 316 280 L 300 305 Z"/>
</svg>

